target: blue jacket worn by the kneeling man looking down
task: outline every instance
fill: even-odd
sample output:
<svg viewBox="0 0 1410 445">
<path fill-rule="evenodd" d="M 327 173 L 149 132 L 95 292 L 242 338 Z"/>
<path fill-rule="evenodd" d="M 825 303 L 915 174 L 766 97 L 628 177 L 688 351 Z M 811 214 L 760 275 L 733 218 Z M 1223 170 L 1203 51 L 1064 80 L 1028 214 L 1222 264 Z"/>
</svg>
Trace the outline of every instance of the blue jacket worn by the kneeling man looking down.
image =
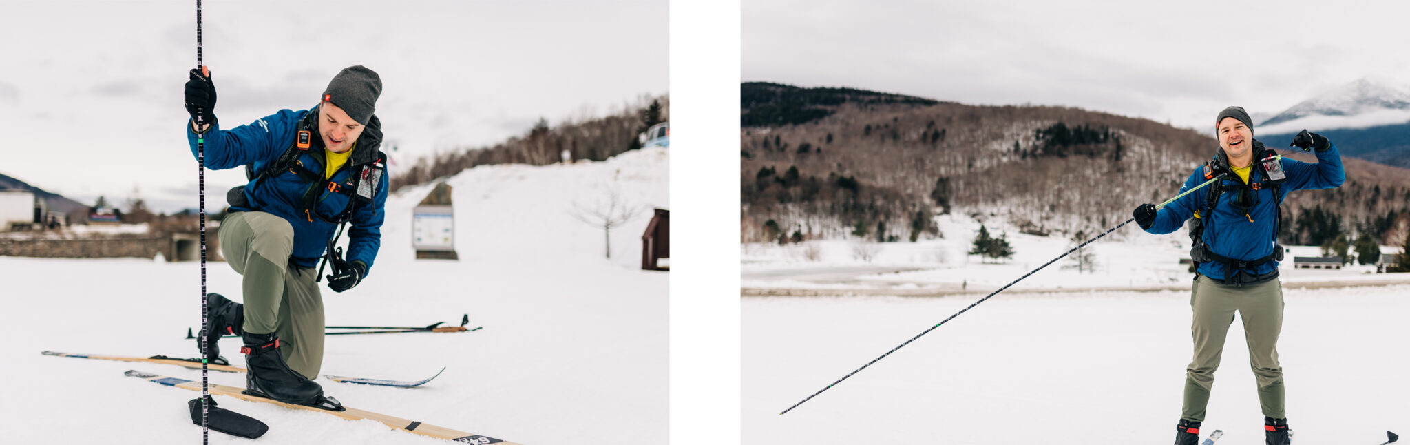
<svg viewBox="0 0 1410 445">
<path fill-rule="evenodd" d="M 309 110 L 283 109 L 278 113 L 261 117 L 250 124 L 231 130 L 221 130 L 219 119 L 210 119 L 212 127 L 204 133 L 206 168 L 227 170 L 254 164 L 254 171 L 262 171 L 269 162 L 275 162 L 281 154 L 289 150 L 298 137 L 300 120 L 317 107 Z M 378 162 L 382 158 L 378 151 L 381 144 L 381 123 L 376 116 L 368 121 L 368 127 L 358 137 L 352 148 L 352 155 L 347 164 L 338 168 L 329 181 L 338 184 L 354 184 L 355 175 L 362 174 L 364 167 Z M 186 121 L 186 140 L 190 143 L 190 153 L 196 155 L 196 141 L 202 134 L 190 129 Z M 303 150 L 298 155 L 298 165 L 324 177 L 323 143 L 313 127 L 312 150 Z M 376 165 L 385 168 L 385 165 Z M 382 246 L 382 220 L 385 218 L 388 175 L 385 171 L 378 178 L 375 195 L 369 203 L 354 208 L 348 223 L 348 263 L 361 261 L 371 274 L 372 261 Z M 317 189 L 316 189 L 317 188 Z M 309 194 L 316 195 L 313 212 L 306 215 L 302 206 Z M 344 194 L 331 192 L 326 182 L 312 182 L 300 178 L 292 170 L 281 171 L 275 175 L 251 179 L 244 188 L 248 206 L 231 205 L 231 210 L 258 210 L 278 215 L 293 226 L 293 253 L 290 263 L 300 267 L 316 267 L 327 243 L 337 229 L 336 223 L 324 220 L 333 219 L 352 205 L 354 198 Z M 324 218 L 320 218 L 324 216 Z M 365 275 L 364 275 L 365 278 Z"/>
</svg>

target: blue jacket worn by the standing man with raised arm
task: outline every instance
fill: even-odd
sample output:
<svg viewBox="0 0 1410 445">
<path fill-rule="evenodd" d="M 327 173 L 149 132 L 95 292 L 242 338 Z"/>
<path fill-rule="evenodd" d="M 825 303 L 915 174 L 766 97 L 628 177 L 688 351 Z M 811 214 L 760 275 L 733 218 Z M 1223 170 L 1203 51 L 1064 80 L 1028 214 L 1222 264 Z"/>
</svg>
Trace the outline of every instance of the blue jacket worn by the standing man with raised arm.
<svg viewBox="0 0 1410 445">
<path fill-rule="evenodd" d="M 1341 167 L 1341 155 L 1337 153 L 1335 144 L 1316 154 L 1316 164 L 1283 158 L 1283 171 L 1287 174 L 1287 181 L 1280 186 L 1283 196 L 1273 196 L 1273 189 L 1263 186 L 1255 191 L 1258 194 L 1258 203 L 1248 212 L 1232 206 L 1231 201 L 1235 194 L 1220 194 L 1213 218 L 1204 219 L 1207 226 L 1204 243 L 1210 247 L 1210 251 L 1242 261 L 1252 261 L 1272 254 L 1277 242 L 1277 202 L 1286 198 L 1287 192 L 1334 188 L 1347 182 L 1347 172 Z M 1249 184 L 1258 182 L 1262 179 L 1262 175 L 1261 170 L 1253 168 L 1248 177 Z M 1184 179 L 1184 186 L 1180 188 L 1180 192 L 1198 186 L 1204 181 L 1207 179 L 1204 179 L 1203 167 L 1196 167 L 1190 178 Z M 1244 184 L 1237 175 L 1228 175 L 1221 182 Z M 1221 184 L 1210 184 L 1207 186 L 1217 185 Z M 1184 195 L 1160 208 L 1155 215 L 1151 229 L 1145 230 L 1155 235 L 1179 230 L 1184 225 L 1184 220 L 1194 215 L 1194 210 L 1198 210 L 1208 202 L 1208 195 L 1204 192 L 1201 189 Z M 1200 213 L 1206 215 L 1210 210 L 1201 210 Z M 1277 261 L 1268 261 L 1255 268 L 1245 268 L 1244 271 L 1262 275 L 1273 270 L 1277 270 Z M 1224 277 L 1224 264 L 1214 261 L 1200 263 L 1196 273 L 1215 280 L 1227 278 Z"/>
</svg>

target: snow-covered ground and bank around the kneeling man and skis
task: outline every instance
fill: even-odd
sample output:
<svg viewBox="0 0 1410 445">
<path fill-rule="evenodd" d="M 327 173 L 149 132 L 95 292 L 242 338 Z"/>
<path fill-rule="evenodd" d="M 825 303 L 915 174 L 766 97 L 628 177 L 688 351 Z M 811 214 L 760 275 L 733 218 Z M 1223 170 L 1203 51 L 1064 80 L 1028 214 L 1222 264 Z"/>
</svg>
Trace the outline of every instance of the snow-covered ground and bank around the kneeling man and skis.
<svg viewBox="0 0 1410 445">
<path fill-rule="evenodd" d="M 367 281 L 324 290 L 330 325 L 458 324 L 465 333 L 331 336 L 323 372 L 412 380 L 417 388 L 319 381 L 350 407 L 527 444 L 667 441 L 668 274 L 640 270 L 650 208 L 668 208 L 668 151 L 633 151 L 603 162 L 494 165 L 461 172 L 454 186 L 460 261 L 415 260 L 412 208 L 430 185 L 388 201 L 382 250 Z M 612 232 L 577 220 L 611 191 L 644 208 Z M 213 209 L 212 209 L 213 210 Z M 41 356 L 42 350 L 195 356 L 186 328 L 200 325 L 197 263 L 141 259 L 0 257 L 0 442 L 190 444 L 196 393 L 123 376 L 138 369 L 199 380 L 175 366 Z M 240 275 L 209 264 L 209 290 L 240 298 Z M 237 364 L 238 339 L 221 342 Z M 243 386 L 241 374 L 212 373 Z M 219 398 L 269 424 L 259 444 L 437 444 L 372 421 Z M 212 432 L 213 444 L 245 439 Z"/>
</svg>

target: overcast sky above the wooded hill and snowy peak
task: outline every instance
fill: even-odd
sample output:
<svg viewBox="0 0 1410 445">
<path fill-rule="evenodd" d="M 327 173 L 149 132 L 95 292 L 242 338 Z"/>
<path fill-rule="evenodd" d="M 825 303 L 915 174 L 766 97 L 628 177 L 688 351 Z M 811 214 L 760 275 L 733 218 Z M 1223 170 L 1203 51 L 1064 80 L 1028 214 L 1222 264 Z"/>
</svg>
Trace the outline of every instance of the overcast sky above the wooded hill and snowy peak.
<svg viewBox="0 0 1410 445">
<path fill-rule="evenodd" d="M 1410 1 L 744 0 L 742 78 L 1210 130 L 1363 76 L 1410 83 Z"/>
</svg>

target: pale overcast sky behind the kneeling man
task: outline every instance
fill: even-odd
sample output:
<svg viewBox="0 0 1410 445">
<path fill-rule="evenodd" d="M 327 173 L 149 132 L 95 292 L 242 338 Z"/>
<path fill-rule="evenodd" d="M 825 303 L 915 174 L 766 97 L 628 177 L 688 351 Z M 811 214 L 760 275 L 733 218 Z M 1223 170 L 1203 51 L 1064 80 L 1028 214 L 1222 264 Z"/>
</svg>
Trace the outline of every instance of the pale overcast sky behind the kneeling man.
<svg viewBox="0 0 1410 445">
<path fill-rule="evenodd" d="M 204 62 L 224 127 L 317 103 L 350 65 L 382 76 L 393 165 L 602 116 L 667 93 L 667 0 L 203 1 Z M 92 203 L 134 188 L 196 206 L 182 133 L 195 1 L 0 6 L 0 174 Z M 206 175 L 207 212 L 240 170 Z"/>
</svg>

